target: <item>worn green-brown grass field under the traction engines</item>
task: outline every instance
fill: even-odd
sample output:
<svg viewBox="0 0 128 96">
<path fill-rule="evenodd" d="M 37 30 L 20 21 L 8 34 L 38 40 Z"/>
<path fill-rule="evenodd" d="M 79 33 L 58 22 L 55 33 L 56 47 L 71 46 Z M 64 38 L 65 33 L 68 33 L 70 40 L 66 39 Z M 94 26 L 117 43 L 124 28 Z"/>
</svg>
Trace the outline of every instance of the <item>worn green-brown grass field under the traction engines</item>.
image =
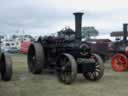
<svg viewBox="0 0 128 96">
<path fill-rule="evenodd" d="M 13 78 L 0 80 L 0 96 L 128 96 L 128 72 L 114 72 L 109 62 L 100 81 L 87 81 L 79 75 L 72 85 L 64 85 L 56 75 L 28 73 L 26 55 L 15 54 L 12 59 Z"/>
</svg>

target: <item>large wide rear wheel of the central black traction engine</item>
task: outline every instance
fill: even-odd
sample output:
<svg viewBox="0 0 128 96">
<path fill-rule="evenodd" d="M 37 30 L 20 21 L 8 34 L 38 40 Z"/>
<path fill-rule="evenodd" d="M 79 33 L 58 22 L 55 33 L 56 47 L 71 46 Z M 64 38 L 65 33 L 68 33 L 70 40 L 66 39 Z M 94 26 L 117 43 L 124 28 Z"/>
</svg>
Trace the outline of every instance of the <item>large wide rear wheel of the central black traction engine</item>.
<svg viewBox="0 0 128 96">
<path fill-rule="evenodd" d="M 41 74 L 44 64 L 45 55 L 43 46 L 40 43 L 33 43 L 28 50 L 28 69 L 33 74 Z"/>
</svg>

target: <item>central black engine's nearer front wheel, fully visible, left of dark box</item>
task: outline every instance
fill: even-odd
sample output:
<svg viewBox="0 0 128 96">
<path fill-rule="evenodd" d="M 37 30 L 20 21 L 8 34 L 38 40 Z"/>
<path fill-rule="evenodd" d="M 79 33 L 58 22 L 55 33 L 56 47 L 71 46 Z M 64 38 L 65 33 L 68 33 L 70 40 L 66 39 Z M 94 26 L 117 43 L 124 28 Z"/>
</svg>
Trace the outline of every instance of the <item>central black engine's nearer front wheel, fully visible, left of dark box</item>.
<svg viewBox="0 0 128 96">
<path fill-rule="evenodd" d="M 77 75 L 77 64 L 72 55 L 67 53 L 62 54 L 57 62 L 57 67 L 57 74 L 60 82 L 71 84 L 75 80 Z"/>
</svg>

